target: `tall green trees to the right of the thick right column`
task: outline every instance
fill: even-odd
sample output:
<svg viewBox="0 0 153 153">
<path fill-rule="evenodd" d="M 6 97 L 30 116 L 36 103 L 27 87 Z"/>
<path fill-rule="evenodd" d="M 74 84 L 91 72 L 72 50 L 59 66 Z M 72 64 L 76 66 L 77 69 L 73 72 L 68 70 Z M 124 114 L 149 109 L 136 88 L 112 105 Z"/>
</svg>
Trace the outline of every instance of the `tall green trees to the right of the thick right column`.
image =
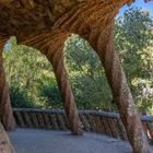
<svg viewBox="0 0 153 153">
<path fill-rule="evenodd" d="M 144 98 L 142 94 L 144 87 L 153 87 L 153 20 L 149 12 L 126 11 L 116 20 L 115 39 L 138 108 L 152 111 L 152 95 Z"/>
</svg>

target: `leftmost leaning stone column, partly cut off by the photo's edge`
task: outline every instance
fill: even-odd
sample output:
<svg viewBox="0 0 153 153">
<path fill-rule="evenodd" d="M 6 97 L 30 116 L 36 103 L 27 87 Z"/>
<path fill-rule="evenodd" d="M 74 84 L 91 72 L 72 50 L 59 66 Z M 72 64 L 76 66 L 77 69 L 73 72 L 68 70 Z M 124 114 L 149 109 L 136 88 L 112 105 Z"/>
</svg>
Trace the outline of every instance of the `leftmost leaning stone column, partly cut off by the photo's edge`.
<svg viewBox="0 0 153 153">
<path fill-rule="evenodd" d="M 2 51 L 0 51 L 0 119 L 5 130 L 13 130 L 15 121 L 10 104 L 9 89 L 2 66 Z"/>
</svg>

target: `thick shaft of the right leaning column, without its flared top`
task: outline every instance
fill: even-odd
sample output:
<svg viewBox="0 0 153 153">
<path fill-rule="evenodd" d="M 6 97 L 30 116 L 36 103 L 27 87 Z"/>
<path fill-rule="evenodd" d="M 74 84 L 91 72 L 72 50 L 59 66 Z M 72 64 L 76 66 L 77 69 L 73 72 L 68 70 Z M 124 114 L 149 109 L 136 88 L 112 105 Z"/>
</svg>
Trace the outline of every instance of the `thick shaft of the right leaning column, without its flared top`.
<svg viewBox="0 0 153 153">
<path fill-rule="evenodd" d="M 125 72 L 114 48 L 113 26 L 109 26 L 110 27 L 103 31 L 103 39 L 101 39 L 101 37 L 98 38 L 95 50 L 104 66 L 114 101 L 118 106 L 133 153 L 150 153 L 149 143 L 142 128 L 140 116 L 137 113 Z M 105 39 L 104 35 L 106 36 Z"/>
</svg>

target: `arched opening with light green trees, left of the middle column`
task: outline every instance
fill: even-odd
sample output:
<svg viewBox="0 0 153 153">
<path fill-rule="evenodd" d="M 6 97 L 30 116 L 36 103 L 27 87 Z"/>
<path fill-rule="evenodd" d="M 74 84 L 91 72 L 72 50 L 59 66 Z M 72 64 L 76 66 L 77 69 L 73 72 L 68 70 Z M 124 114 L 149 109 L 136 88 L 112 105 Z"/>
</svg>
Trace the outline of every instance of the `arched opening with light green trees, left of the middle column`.
<svg viewBox="0 0 153 153">
<path fill-rule="evenodd" d="M 3 58 L 13 107 L 61 107 L 56 78 L 44 55 L 17 45 L 15 37 L 11 37 L 4 46 Z"/>
</svg>

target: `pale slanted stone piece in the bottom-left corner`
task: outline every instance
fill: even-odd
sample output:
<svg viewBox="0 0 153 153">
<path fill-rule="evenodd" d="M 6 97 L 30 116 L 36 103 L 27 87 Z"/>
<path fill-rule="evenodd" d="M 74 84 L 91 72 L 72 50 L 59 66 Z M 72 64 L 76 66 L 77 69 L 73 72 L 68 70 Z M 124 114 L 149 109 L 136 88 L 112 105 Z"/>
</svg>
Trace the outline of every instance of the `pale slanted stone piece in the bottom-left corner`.
<svg viewBox="0 0 153 153">
<path fill-rule="evenodd" d="M 0 122 L 0 153 L 15 153 Z"/>
</svg>

